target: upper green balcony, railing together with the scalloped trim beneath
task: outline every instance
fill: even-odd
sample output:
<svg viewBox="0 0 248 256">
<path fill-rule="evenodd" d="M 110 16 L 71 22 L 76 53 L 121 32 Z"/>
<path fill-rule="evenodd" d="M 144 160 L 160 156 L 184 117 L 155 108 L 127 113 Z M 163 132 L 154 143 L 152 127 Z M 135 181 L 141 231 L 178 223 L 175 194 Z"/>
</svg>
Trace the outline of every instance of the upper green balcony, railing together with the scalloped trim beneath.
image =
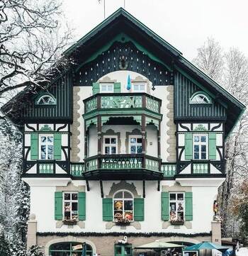
<svg viewBox="0 0 248 256">
<path fill-rule="evenodd" d="M 160 113 L 161 100 L 145 93 L 132 94 L 95 94 L 84 99 L 84 120 L 87 123 L 96 122 L 96 116 L 140 116 L 145 114 L 149 118 L 162 120 Z M 141 118 L 137 117 L 137 121 Z"/>
</svg>

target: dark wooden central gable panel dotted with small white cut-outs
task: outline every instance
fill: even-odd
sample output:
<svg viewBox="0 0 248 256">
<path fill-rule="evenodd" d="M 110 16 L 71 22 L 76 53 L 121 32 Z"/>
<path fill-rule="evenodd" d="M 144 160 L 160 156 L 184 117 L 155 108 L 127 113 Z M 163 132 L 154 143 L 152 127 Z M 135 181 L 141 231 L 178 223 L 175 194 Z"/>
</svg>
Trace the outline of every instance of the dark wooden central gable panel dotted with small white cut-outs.
<svg viewBox="0 0 248 256">
<path fill-rule="evenodd" d="M 130 41 L 115 42 L 108 50 L 100 52 L 94 60 L 82 65 L 75 74 L 74 84 L 90 86 L 103 75 L 118 70 L 143 74 L 154 85 L 173 84 L 173 72 L 162 63 L 152 60 L 145 50 L 137 49 Z"/>
</svg>

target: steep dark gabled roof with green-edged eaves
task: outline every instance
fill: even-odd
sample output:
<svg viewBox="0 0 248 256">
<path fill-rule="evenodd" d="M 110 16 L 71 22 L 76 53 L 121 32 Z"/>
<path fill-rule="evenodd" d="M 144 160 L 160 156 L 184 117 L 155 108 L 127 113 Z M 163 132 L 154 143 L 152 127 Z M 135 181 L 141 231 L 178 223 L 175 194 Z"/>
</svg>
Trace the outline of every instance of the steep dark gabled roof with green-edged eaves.
<svg viewBox="0 0 248 256">
<path fill-rule="evenodd" d="M 142 49 L 149 49 L 150 55 L 157 58 L 159 62 L 163 62 L 169 69 L 176 69 L 186 74 L 199 87 L 209 91 L 215 101 L 225 104 L 228 113 L 226 131 L 229 133 L 232 130 L 235 122 L 244 111 L 244 104 L 186 60 L 179 50 L 122 8 L 115 11 L 96 28 L 79 39 L 77 43 L 65 50 L 63 55 L 73 57 L 77 66 L 81 65 L 92 60 L 92 56 L 96 55 L 96 52 L 102 49 L 103 45 L 109 45 L 110 41 L 114 40 L 120 33 L 128 35 Z M 77 69 L 77 67 L 73 67 L 73 69 Z M 23 93 L 19 94 L 15 100 L 21 95 Z M 3 110 L 6 110 L 6 106 L 3 107 Z"/>
</svg>

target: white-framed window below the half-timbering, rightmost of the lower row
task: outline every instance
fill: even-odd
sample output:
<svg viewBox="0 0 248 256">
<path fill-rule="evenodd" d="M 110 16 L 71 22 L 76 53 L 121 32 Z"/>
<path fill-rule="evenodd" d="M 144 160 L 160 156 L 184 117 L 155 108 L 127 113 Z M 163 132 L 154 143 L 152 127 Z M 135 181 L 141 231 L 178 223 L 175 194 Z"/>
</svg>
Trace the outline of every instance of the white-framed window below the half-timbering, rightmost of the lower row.
<svg viewBox="0 0 248 256">
<path fill-rule="evenodd" d="M 170 221 L 184 221 L 184 193 L 169 193 L 169 218 Z"/>
</svg>

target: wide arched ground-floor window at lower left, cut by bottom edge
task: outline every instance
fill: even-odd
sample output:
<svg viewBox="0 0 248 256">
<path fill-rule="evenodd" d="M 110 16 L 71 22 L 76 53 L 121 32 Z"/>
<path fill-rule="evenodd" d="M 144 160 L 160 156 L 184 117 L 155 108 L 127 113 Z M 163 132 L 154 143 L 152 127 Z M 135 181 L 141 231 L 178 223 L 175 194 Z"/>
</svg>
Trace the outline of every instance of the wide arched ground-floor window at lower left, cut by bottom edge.
<svg viewBox="0 0 248 256">
<path fill-rule="evenodd" d="M 51 256 L 81 256 L 83 243 L 54 243 L 50 245 L 49 255 Z M 93 256 L 92 247 L 86 244 L 86 256 Z"/>
</svg>

